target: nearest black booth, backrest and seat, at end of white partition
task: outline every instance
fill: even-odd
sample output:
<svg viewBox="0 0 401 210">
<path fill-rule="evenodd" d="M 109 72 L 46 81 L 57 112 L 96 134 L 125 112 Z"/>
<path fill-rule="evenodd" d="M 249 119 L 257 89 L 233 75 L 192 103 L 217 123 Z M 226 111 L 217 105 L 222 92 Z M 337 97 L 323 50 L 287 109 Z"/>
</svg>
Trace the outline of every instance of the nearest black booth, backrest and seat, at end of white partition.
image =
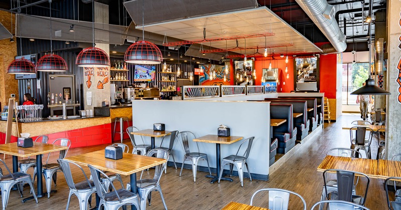
<svg viewBox="0 0 401 210">
<path fill-rule="evenodd" d="M 270 104 L 270 118 L 286 119 L 286 122 L 273 126 L 272 138 L 277 138 L 277 152 L 285 154 L 295 146 L 297 128 L 294 128 L 292 104 Z"/>
</svg>

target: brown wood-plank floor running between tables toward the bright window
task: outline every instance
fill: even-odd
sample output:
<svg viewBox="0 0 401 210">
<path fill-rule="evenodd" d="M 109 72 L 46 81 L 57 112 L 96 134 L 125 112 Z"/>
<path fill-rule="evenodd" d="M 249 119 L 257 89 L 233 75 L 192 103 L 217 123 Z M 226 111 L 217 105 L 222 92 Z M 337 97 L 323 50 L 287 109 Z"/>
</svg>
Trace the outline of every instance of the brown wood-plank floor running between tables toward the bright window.
<svg viewBox="0 0 401 210">
<path fill-rule="evenodd" d="M 169 209 L 222 209 L 230 201 L 242 203 L 250 202 L 251 195 L 261 188 L 284 188 L 293 190 L 301 194 L 307 203 L 307 209 L 320 199 L 322 191 L 322 172 L 316 170 L 321 160 L 325 157 L 328 149 L 333 147 L 349 147 L 349 131 L 341 129 L 342 125 L 358 119 L 358 115 L 344 114 L 337 122 L 325 123 L 323 134 L 318 139 L 309 140 L 302 146 L 299 152 L 293 155 L 285 165 L 270 174 L 269 181 L 253 180 L 244 178 L 244 187 L 237 176 L 233 176 L 234 181 L 221 181 L 221 183 L 210 183 L 210 178 L 205 177 L 206 172 L 198 171 L 196 182 L 193 182 L 192 171 L 184 169 L 182 176 L 179 177 L 179 169 L 167 168 L 167 174 L 161 177 L 161 188 Z M 128 142 L 128 141 L 126 141 Z M 376 156 L 377 142 L 372 142 L 372 156 Z M 104 148 L 104 145 L 81 147 L 70 149 L 67 156 L 83 152 L 89 152 Z M 55 161 L 57 154 L 52 156 Z M 210 160 L 214 161 L 214 160 Z M 11 156 L 6 158 L 6 163 L 11 167 Z M 266 161 L 268 165 L 268 161 Z M 88 176 L 88 168 L 84 168 Z M 5 169 L 3 169 L 5 171 Z M 32 169 L 29 172 L 33 172 Z M 73 173 L 77 174 L 78 170 Z M 145 172 L 150 176 L 153 170 Z M 139 177 L 139 175 L 138 175 Z M 129 177 L 123 177 L 124 183 L 129 181 Z M 118 183 L 118 182 L 116 182 Z M 366 207 L 370 209 L 385 209 L 386 198 L 382 179 L 371 179 L 371 185 L 366 201 Z M 46 189 L 44 185 L 44 189 Z M 8 204 L 8 209 L 65 209 L 68 197 L 68 186 L 63 174 L 59 173 L 57 193 L 51 194 L 50 198 L 39 198 L 39 203 L 30 200 L 26 203 L 21 202 L 21 197 L 17 191 L 12 191 Z M 358 190 L 358 189 L 357 189 Z M 25 187 L 25 196 L 29 196 L 29 187 Z M 93 195 L 94 197 L 94 195 Z M 93 201 L 94 202 L 94 199 Z M 256 197 L 254 205 L 267 207 L 266 197 Z M 93 203 L 94 204 L 94 203 Z M 301 202 L 294 198 L 290 201 L 290 209 L 301 209 Z M 147 209 L 163 209 L 158 192 L 152 193 L 152 205 Z M 78 200 L 72 197 L 69 209 L 79 209 Z"/>
</svg>

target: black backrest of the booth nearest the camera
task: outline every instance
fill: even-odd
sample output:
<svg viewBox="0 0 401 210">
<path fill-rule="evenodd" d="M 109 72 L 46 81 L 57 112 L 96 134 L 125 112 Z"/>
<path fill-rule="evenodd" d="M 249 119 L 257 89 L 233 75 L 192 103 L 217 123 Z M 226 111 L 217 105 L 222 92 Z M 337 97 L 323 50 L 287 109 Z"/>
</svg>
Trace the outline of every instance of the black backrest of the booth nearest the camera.
<svg viewBox="0 0 401 210">
<path fill-rule="evenodd" d="M 292 104 L 270 104 L 270 118 L 271 119 L 286 119 L 283 124 L 275 126 L 276 132 L 290 133 L 293 136 L 294 123 L 292 118 Z"/>
</svg>

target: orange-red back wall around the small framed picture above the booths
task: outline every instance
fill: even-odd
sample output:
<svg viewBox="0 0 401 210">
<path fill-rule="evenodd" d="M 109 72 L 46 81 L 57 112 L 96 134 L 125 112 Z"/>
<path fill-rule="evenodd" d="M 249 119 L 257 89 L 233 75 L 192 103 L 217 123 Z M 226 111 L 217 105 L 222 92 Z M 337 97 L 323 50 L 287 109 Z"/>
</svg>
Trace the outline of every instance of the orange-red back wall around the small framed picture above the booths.
<svg viewBox="0 0 401 210">
<path fill-rule="evenodd" d="M 285 57 L 276 57 L 274 60 L 271 60 L 272 68 L 279 68 L 279 81 L 278 92 L 291 92 L 294 90 L 294 60 L 289 58 L 288 63 L 285 62 Z M 256 81 L 255 85 L 261 85 L 262 83 L 262 68 L 268 68 L 270 63 L 270 59 L 265 57 L 256 57 L 255 58 L 255 69 L 256 69 Z M 288 64 L 288 75 L 285 72 L 286 64 Z M 285 82 L 285 84 L 283 83 Z"/>
</svg>

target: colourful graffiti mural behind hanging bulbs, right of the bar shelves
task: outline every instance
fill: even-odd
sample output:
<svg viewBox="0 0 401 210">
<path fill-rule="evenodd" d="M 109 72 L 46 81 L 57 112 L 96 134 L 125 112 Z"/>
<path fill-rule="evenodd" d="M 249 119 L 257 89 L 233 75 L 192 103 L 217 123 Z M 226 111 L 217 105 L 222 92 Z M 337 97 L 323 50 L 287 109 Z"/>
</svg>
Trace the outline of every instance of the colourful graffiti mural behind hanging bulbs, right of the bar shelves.
<svg viewBox="0 0 401 210">
<path fill-rule="evenodd" d="M 202 64 L 199 68 L 203 70 L 204 75 L 199 75 L 200 85 L 230 85 L 230 68 L 226 74 L 225 65 Z M 212 76 L 211 76 L 212 73 Z M 226 77 L 226 79 L 224 79 Z M 212 79 L 211 79 L 212 78 Z M 225 81 L 226 80 L 226 81 Z"/>
</svg>

